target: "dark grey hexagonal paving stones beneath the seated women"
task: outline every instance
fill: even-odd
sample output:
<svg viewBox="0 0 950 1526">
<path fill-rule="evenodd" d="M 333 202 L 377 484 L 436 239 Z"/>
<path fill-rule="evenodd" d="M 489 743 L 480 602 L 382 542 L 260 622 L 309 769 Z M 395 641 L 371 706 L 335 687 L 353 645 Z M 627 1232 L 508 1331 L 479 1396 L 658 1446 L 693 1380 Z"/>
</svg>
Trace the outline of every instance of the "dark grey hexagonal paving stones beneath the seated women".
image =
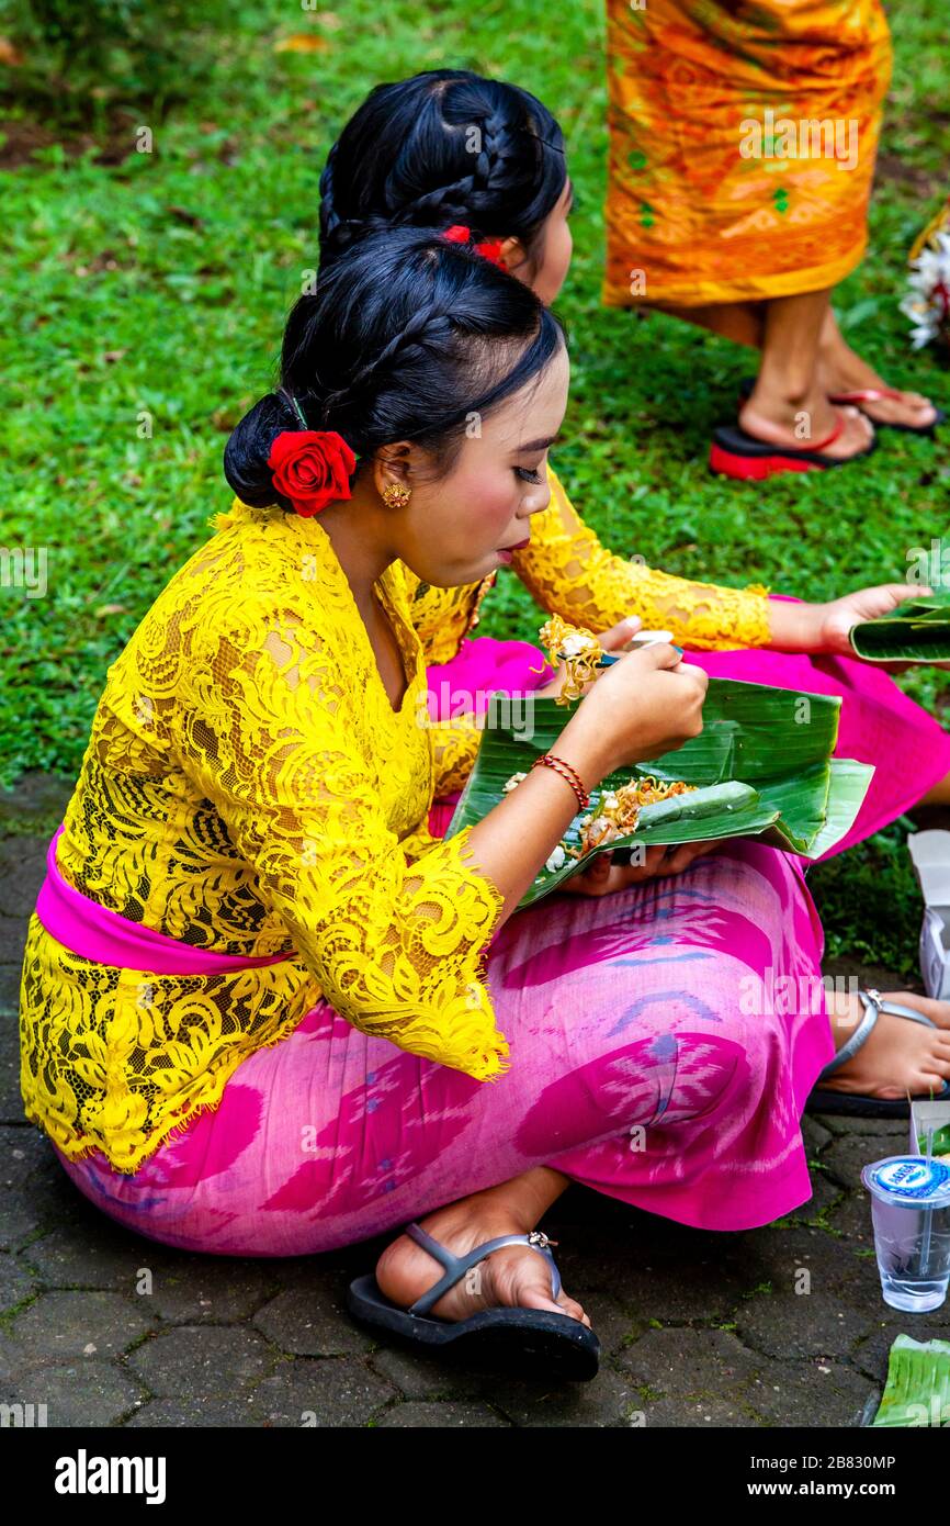
<svg viewBox="0 0 950 1526">
<path fill-rule="evenodd" d="M 813 1198 L 741 1235 L 572 1186 L 544 1228 L 602 1343 L 587 1384 L 377 1341 L 343 1294 L 386 1238 L 238 1260 L 120 1230 L 72 1187 L 20 1102 L 23 935 L 69 789 L 29 775 L 0 794 L 0 1402 L 44 1402 L 50 1425 L 849 1427 L 901 1331 L 950 1338 L 950 1308 L 901 1318 L 880 1297 L 860 1167 L 901 1149 L 906 1123 L 807 1117 Z M 886 981 L 837 972 L 852 969 Z"/>
</svg>

